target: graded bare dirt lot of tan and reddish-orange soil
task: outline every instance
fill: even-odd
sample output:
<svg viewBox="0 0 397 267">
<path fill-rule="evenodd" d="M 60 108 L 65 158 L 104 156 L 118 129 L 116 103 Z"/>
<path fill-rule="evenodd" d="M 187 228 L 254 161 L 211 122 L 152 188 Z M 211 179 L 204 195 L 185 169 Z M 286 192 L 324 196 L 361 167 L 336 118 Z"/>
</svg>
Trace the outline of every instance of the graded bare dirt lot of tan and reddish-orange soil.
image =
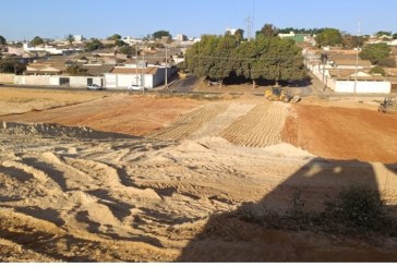
<svg viewBox="0 0 397 267">
<path fill-rule="evenodd" d="M 395 207 L 397 118 L 373 99 L 87 93 L 59 107 L 47 92 L 52 100 L 26 112 L 12 93 L 1 105 L 20 114 L 0 117 L 2 262 L 397 260 L 392 238 L 272 230 L 233 216 L 248 203 L 288 210 L 297 192 L 321 210 L 352 184 Z"/>
</svg>

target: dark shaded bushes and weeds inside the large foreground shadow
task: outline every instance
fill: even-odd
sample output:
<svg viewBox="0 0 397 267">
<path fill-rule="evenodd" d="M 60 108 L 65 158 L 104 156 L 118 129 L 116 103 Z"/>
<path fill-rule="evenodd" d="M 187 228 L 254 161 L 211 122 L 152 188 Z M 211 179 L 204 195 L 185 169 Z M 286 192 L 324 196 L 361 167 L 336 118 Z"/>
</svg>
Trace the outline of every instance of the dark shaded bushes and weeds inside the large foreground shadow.
<svg viewBox="0 0 397 267">
<path fill-rule="evenodd" d="M 364 185 L 344 189 L 333 202 L 324 203 L 321 213 L 303 211 L 304 201 L 297 191 L 292 208 L 286 214 L 264 207 L 260 213 L 254 204 L 246 204 L 236 215 L 243 220 L 266 228 L 318 231 L 350 235 L 397 236 L 397 224 L 376 190 Z"/>
</svg>

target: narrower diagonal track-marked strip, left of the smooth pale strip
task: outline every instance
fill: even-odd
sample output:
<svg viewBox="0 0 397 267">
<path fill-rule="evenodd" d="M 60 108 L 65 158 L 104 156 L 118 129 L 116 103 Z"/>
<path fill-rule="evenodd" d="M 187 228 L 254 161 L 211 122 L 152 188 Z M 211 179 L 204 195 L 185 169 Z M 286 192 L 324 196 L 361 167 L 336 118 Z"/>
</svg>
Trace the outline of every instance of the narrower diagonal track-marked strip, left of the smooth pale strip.
<svg viewBox="0 0 397 267">
<path fill-rule="evenodd" d="M 208 104 L 179 117 L 170 126 L 146 135 L 156 139 L 183 139 L 197 131 L 205 122 L 225 112 L 226 104 Z"/>
</svg>

